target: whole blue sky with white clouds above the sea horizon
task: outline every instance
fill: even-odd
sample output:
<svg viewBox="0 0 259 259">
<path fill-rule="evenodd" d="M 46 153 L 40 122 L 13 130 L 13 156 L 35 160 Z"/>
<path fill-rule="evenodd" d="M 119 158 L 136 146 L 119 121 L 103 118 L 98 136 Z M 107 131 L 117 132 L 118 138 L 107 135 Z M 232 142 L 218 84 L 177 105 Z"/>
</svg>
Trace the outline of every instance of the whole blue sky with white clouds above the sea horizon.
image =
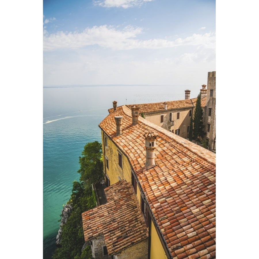
<svg viewBox="0 0 259 259">
<path fill-rule="evenodd" d="M 43 85 L 203 85 L 211 0 L 43 0 Z"/>
</svg>

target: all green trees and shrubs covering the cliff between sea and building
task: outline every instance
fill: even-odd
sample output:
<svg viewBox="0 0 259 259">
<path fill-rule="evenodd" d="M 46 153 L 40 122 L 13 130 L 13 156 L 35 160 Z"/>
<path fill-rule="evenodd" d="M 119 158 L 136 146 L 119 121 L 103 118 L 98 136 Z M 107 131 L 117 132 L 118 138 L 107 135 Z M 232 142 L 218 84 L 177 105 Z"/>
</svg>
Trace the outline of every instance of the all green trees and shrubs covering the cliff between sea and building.
<svg viewBox="0 0 259 259">
<path fill-rule="evenodd" d="M 73 207 L 66 224 L 61 226 L 60 247 L 52 255 L 53 259 L 92 259 L 90 246 L 86 246 L 83 236 L 82 216 L 87 210 L 96 207 L 96 198 L 92 183 L 102 178 L 102 145 L 98 141 L 89 142 L 84 146 L 79 157 L 79 182 L 73 182 L 72 194 L 67 202 Z"/>
</svg>

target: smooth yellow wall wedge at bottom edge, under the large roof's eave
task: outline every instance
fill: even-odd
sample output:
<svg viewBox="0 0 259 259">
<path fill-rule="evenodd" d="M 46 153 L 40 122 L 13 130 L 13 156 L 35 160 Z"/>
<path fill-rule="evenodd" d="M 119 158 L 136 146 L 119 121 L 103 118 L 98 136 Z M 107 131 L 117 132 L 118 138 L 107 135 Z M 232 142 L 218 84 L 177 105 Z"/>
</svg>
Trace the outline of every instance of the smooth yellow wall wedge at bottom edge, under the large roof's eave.
<svg viewBox="0 0 259 259">
<path fill-rule="evenodd" d="M 153 222 L 151 222 L 150 259 L 167 259 Z"/>
</svg>

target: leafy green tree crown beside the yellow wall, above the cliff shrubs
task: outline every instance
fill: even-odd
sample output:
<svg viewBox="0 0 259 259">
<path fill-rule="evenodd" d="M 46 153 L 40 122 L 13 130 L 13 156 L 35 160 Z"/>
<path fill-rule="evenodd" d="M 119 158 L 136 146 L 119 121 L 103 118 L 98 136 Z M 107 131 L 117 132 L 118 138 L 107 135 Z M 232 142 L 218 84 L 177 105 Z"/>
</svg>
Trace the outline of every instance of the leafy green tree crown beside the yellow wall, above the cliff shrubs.
<svg viewBox="0 0 259 259">
<path fill-rule="evenodd" d="M 98 141 L 89 142 L 79 157 L 80 169 L 77 171 L 80 181 L 84 184 L 93 183 L 102 177 L 102 144 Z"/>
</svg>

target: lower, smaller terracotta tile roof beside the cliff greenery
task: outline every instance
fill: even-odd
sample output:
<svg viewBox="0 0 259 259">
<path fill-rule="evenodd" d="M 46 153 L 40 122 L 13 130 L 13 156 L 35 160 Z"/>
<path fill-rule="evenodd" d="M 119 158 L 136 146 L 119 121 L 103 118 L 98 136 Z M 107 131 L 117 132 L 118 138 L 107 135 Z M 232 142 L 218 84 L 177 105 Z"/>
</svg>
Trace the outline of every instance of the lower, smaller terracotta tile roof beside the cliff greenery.
<svg viewBox="0 0 259 259">
<path fill-rule="evenodd" d="M 131 184 L 121 180 L 104 189 L 107 203 L 82 213 L 85 241 L 104 235 L 109 255 L 148 237 Z"/>
</svg>

